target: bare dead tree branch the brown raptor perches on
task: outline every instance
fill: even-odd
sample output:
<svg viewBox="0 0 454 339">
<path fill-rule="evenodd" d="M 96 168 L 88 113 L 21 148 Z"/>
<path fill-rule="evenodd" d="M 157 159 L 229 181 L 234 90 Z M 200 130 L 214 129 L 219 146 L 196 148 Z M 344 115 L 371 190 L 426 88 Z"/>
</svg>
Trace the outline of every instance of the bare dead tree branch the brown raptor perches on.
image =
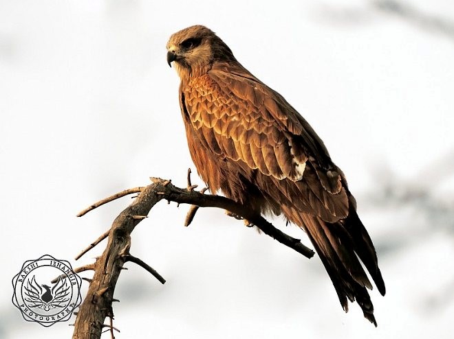
<svg viewBox="0 0 454 339">
<path fill-rule="evenodd" d="M 102 204 L 120 198 L 121 196 L 139 193 L 133 203 L 122 211 L 114 220 L 111 229 L 102 234 L 77 257 L 81 257 L 91 248 L 94 248 L 99 244 L 102 239 L 108 237 L 107 246 L 96 262 L 79 269 L 76 268 L 75 270 L 76 272 L 94 270 L 94 277 L 92 279 L 87 279 L 87 281 L 89 281 L 89 289 L 85 300 L 82 305 L 80 305 L 80 309 L 77 312 L 73 338 L 100 338 L 102 329 L 106 327 L 104 324 L 105 318 L 109 317 L 112 319 L 114 316 L 112 302 L 117 301 L 117 299 L 114 299 L 114 290 L 120 272 L 125 269 L 123 267 L 125 262 L 131 261 L 138 264 L 153 274 L 161 283 L 165 282 L 164 278 L 162 278 L 158 272 L 148 264 L 145 264 L 144 261 L 129 253 L 129 249 L 131 248 L 131 232 L 139 222 L 147 217 L 151 208 L 160 200 L 164 199 L 169 202 L 177 202 L 178 204 L 192 204 L 196 207 L 218 207 L 226 209 L 227 211 L 230 211 L 230 213 L 239 215 L 241 218 L 248 220 L 266 235 L 269 235 L 278 242 L 281 242 L 281 244 L 296 250 L 296 252 L 301 253 L 305 257 L 310 258 L 314 255 L 314 251 L 301 244 L 299 239 L 295 239 L 279 231 L 279 229 L 272 226 L 272 224 L 261 217 L 261 215 L 254 213 L 244 205 L 222 196 L 204 194 L 205 190 L 202 192 L 194 191 L 195 185 L 191 185 L 190 178 L 188 178 L 188 187 L 186 189 L 175 187 L 171 184 L 170 180 L 151 178 L 151 181 L 152 184 L 147 187 L 127 189 L 119 194 L 115 194 L 114 196 L 92 204 L 88 209 L 85 209 L 78 214 L 78 216 L 84 215 L 88 211 L 96 209 Z M 191 219 L 194 214 L 195 211 L 192 213 Z M 107 327 L 115 329 L 112 323 L 107 325 Z"/>
</svg>

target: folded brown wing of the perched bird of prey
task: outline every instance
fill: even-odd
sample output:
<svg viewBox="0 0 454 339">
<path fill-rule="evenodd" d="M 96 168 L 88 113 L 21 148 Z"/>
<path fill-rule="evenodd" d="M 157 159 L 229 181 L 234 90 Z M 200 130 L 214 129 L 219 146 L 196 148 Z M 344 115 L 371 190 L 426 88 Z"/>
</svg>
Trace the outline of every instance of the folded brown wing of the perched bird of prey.
<svg viewBox="0 0 454 339">
<path fill-rule="evenodd" d="M 267 185 L 299 211 L 312 211 L 327 222 L 347 215 L 348 198 L 337 167 L 281 95 L 250 74 L 221 69 L 209 71 L 200 87 L 193 83 L 184 95 L 202 145 L 275 180 Z"/>
</svg>

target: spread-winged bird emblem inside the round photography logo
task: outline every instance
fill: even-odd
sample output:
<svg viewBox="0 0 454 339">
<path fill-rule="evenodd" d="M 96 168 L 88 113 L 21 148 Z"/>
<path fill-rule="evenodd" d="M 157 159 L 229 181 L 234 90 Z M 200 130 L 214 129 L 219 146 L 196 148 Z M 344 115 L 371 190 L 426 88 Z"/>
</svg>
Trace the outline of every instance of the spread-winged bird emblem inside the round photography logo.
<svg viewBox="0 0 454 339">
<path fill-rule="evenodd" d="M 69 290 L 70 286 L 67 284 L 67 281 L 61 277 L 58 278 L 51 288 L 49 285 L 40 285 L 33 276 L 32 279 L 28 279 L 27 281 L 24 293 L 27 297 L 24 300 L 30 303 L 28 307 L 38 307 L 47 312 L 56 307 L 66 307 L 67 301 L 70 299 Z"/>
</svg>

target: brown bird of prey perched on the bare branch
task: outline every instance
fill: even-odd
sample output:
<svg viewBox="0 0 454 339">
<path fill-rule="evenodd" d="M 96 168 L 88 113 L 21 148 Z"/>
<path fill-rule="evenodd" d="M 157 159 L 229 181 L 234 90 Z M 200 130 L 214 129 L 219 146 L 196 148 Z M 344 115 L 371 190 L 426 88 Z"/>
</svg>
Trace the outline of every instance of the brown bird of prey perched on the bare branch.
<svg viewBox="0 0 454 339">
<path fill-rule="evenodd" d="M 283 214 L 310 238 L 340 304 L 356 301 L 376 324 L 367 289 L 385 295 L 374 244 L 356 200 L 323 141 L 283 98 L 244 68 L 202 25 L 169 38 L 167 62 L 180 76 L 180 107 L 197 172 L 257 213 Z"/>
</svg>

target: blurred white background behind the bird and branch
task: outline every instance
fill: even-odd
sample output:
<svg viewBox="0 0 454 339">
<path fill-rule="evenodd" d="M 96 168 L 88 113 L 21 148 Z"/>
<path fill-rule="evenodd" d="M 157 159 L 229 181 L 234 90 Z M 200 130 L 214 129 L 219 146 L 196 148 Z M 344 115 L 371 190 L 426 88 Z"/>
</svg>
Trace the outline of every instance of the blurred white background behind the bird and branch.
<svg viewBox="0 0 454 339">
<path fill-rule="evenodd" d="M 131 253 L 167 283 L 127 264 L 116 338 L 452 338 L 450 0 L 0 0 L 0 338 L 72 336 L 71 320 L 25 322 L 11 279 L 44 254 L 93 261 L 105 242 L 73 258 L 131 199 L 76 218 L 80 209 L 149 176 L 186 185 L 194 166 L 165 45 L 193 24 L 217 32 L 325 141 L 374 239 L 387 295 L 371 292 L 374 328 L 358 305 L 343 312 L 318 257 L 221 210 L 201 209 L 184 228 L 188 207 L 161 202 Z M 309 245 L 296 227 L 284 231 Z"/>
</svg>

